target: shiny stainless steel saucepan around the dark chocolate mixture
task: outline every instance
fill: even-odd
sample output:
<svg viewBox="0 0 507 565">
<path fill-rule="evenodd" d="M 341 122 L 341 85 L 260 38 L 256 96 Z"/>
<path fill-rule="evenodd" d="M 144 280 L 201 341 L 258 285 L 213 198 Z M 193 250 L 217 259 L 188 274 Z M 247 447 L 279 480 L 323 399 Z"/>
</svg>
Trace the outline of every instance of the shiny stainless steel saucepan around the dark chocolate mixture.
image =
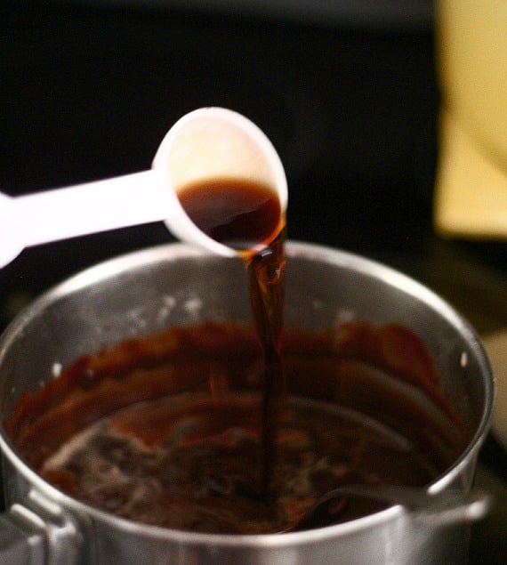
<svg viewBox="0 0 507 565">
<path fill-rule="evenodd" d="M 442 510 L 440 515 L 437 510 L 421 520 L 418 511 L 404 504 L 387 504 L 344 523 L 260 535 L 151 526 L 99 510 L 55 488 L 28 465 L 2 427 L 6 511 L 0 518 L 0 561 L 37 565 L 466 562 L 474 518 L 466 512 L 466 496 L 473 489 L 494 397 L 478 335 L 438 295 L 387 266 L 295 241 L 286 244 L 286 255 L 287 328 L 321 332 L 350 320 L 366 320 L 373 326 L 410 328 L 425 344 L 442 394 L 463 425 L 459 449 L 424 490 L 434 496 L 447 491 L 458 499 L 463 495 L 460 511 Z M 23 394 L 40 390 L 60 373 L 60 367 L 81 355 L 167 327 L 206 320 L 247 324 L 250 318 L 245 267 L 238 259 L 169 244 L 104 262 L 41 296 L 4 332 L 0 418 L 9 421 Z M 403 417 L 402 409 L 399 414 Z"/>
</svg>

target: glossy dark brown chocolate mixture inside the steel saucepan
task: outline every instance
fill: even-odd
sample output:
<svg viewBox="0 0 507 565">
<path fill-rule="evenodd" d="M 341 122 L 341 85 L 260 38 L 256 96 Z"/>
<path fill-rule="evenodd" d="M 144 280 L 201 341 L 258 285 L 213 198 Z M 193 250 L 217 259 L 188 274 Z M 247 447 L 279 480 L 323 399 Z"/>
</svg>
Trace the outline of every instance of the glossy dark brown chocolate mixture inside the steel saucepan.
<svg viewBox="0 0 507 565">
<path fill-rule="evenodd" d="M 341 484 L 422 486 L 463 448 L 431 357 L 406 328 L 286 331 L 282 357 L 287 397 L 269 499 L 256 490 L 264 359 L 250 327 L 173 327 L 76 359 L 25 393 L 6 429 L 28 464 L 87 504 L 229 533 L 284 530 Z M 423 392 L 438 413 L 391 380 Z M 374 508 L 350 501 L 339 517 Z"/>
</svg>

